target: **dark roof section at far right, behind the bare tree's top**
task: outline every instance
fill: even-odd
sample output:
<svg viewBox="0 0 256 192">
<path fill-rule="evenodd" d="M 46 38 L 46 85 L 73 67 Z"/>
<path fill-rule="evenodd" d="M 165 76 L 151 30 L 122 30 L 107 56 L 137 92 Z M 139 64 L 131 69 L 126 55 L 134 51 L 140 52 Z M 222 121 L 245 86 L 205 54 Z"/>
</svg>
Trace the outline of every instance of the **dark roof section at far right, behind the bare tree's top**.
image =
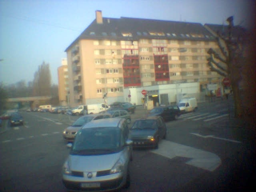
<svg viewBox="0 0 256 192">
<path fill-rule="evenodd" d="M 217 25 L 217 24 L 204 24 L 209 27 L 215 33 L 219 32 L 222 36 L 228 38 L 228 25 Z M 234 26 L 232 30 L 233 37 L 244 36 L 246 34 L 246 29 L 241 26 Z"/>
</svg>

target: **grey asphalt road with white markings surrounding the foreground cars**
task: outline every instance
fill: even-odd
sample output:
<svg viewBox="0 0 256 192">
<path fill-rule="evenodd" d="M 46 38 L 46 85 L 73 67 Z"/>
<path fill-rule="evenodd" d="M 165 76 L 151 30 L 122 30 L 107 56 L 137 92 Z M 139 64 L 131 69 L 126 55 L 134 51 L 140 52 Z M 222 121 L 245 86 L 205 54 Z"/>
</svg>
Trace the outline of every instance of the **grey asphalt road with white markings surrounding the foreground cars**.
<svg viewBox="0 0 256 192">
<path fill-rule="evenodd" d="M 124 192 L 247 190 L 254 153 L 237 131 L 246 124 L 229 115 L 226 100 L 198 104 L 198 111 L 166 122 L 157 150 L 134 150 L 131 186 Z M 132 122 L 147 110 L 138 106 Z M 69 149 L 62 131 L 77 116 L 22 112 L 24 126 L 1 127 L 0 191 L 64 192 L 61 169 Z"/>
</svg>

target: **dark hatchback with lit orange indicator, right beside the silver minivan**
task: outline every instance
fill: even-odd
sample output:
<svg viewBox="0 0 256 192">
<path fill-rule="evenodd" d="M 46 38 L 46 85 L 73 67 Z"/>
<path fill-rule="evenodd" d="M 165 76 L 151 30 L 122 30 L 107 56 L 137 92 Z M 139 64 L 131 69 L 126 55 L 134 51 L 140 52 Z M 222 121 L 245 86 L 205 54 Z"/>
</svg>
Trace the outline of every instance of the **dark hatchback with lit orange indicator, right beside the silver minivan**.
<svg viewBox="0 0 256 192">
<path fill-rule="evenodd" d="M 158 148 L 161 139 L 166 138 L 166 124 L 161 116 L 147 116 L 137 119 L 131 128 L 134 147 Z"/>
</svg>

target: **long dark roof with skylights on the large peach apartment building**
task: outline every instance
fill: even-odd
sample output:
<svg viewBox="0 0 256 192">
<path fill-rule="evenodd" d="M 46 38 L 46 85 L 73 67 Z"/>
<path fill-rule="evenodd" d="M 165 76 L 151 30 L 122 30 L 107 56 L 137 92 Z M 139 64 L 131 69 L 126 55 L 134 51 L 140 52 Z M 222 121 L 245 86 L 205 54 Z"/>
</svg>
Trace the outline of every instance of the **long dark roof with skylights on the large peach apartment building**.
<svg viewBox="0 0 256 192">
<path fill-rule="evenodd" d="M 79 39 L 138 40 L 141 38 L 147 38 L 204 41 L 214 40 L 212 34 L 200 23 L 126 17 L 102 18 L 102 20 L 102 24 L 97 24 L 95 19 L 84 30 L 84 32 L 82 32 L 82 34 L 72 42 L 72 44 Z M 122 32 L 131 33 L 132 37 L 124 37 L 122 36 Z M 150 35 L 149 32 L 164 33 L 164 36 Z M 103 35 L 102 33 L 105 34 Z M 167 35 L 167 33 L 170 35 Z M 173 36 L 172 34 L 176 34 L 176 36 Z M 188 36 L 186 36 L 186 34 L 188 34 Z M 201 37 L 192 37 L 192 34 L 201 35 Z M 70 46 L 72 46 L 72 44 Z M 70 46 L 65 51 L 67 51 Z"/>
</svg>

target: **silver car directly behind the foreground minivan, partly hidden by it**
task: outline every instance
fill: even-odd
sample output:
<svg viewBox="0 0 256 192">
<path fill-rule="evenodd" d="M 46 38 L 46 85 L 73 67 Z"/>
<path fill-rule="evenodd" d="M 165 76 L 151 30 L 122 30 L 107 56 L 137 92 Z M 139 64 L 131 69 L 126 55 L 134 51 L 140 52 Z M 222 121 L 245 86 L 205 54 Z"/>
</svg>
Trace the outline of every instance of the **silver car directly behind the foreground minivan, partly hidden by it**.
<svg viewBox="0 0 256 192">
<path fill-rule="evenodd" d="M 88 114 L 78 118 L 71 126 L 67 127 L 63 131 L 63 138 L 67 141 L 74 141 L 76 133 L 82 128 L 82 126 L 92 120 L 111 118 L 110 114 Z"/>
</svg>

